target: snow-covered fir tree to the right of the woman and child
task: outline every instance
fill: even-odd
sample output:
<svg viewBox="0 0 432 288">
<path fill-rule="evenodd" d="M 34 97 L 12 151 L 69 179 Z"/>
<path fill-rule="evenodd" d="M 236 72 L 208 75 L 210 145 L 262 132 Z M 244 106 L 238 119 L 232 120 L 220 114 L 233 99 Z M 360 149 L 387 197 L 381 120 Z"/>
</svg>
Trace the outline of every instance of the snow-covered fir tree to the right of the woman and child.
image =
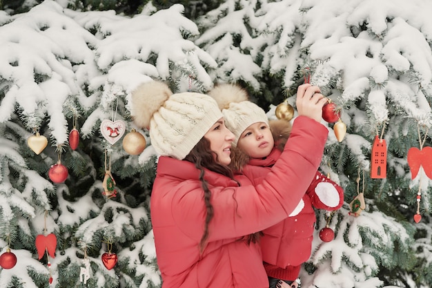
<svg viewBox="0 0 432 288">
<path fill-rule="evenodd" d="M 409 148 L 431 146 L 432 23 L 422 17 L 431 8 L 424 1 L 228 0 L 198 21 L 196 43 L 217 60 L 217 79 L 246 81 L 258 99 L 283 86 L 294 105 L 292 91 L 310 71 L 342 109 L 348 133 L 338 142 L 328 124 L 322 170 L 344 186 L 346 204 L 331 218 L 333 242 L 318 237 L 326 222 L 317 212 L 302 287 L 431 286 L 431 182 L 424 174 L 411 180 L 406 160 Z M 264 99 L 273 104 L 270 117 L 273 97 Z M 375 135 L 387 143 L 384 179 L 370 177 Z M 348 215 L 362 192 L 366 211 Z M 415 224 L 418 193 L 422 222 Z"/>
</svg>

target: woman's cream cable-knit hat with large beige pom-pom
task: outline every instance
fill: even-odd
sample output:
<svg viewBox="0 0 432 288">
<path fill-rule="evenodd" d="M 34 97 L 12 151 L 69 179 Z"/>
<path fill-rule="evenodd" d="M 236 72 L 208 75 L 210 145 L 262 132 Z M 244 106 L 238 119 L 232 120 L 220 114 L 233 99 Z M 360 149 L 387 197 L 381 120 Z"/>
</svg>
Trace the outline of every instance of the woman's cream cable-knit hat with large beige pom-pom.
<svg viewBox="0 0 432 288">
<path fill-rule="evenodd" d="M 199 93 L 173 94 L 159 81 L 146 82 L 132 91 L 135 124 L 149 128 L 159 155 L 183 160 L 223 115 L 215 99 Z"/>
</svg>

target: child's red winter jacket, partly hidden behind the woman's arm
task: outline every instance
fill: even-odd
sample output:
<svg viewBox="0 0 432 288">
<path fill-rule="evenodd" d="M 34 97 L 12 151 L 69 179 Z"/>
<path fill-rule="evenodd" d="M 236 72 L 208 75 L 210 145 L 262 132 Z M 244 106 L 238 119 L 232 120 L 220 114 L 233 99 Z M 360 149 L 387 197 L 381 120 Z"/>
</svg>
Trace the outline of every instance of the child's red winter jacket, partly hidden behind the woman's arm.
<svg viewBox="0 0 432 288">
<path fill-rule="evenodd" d="M 280 155 L 281 151 L 273 148 L 265 159 L 251 159 L 249 164 L 244 166 L 244 175 L 255 185 L 261 183 Z M 288 189 L 286 191 L 289 192 Z M 263 231 L 264 236 L 260 241 L 267 275 L 283 280 L 295 280 L 299 275 L 300 265 L 311 256 L 316 220 L 313 207 L 333 211 L 342 207 L 343 203 L 342 187 L 322 173 L 316 172 L 295 211 L 282 222 Z"/>
</svg>

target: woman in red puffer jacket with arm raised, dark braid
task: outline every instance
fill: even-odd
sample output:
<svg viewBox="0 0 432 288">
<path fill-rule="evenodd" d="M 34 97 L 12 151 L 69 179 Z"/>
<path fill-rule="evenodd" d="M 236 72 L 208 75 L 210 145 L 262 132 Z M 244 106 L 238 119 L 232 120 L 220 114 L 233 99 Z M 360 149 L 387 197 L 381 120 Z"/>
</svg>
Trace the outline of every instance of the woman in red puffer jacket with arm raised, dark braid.
<svg viewBox="0 0 432 288">
<path fill-rule="evenodd" d="M 268 287 L 253 234 L 288 217 L 313 179 L 328 133 L 325 103 L 319 88 L 299 87 L 291 144 L 253 186 L 228 168 L 234 135 L 213 98 L 155 81 L 132 92 L 135 124 L 149 128 L 160 155 L 150 216 L 162 287 Z"/>
</svg>

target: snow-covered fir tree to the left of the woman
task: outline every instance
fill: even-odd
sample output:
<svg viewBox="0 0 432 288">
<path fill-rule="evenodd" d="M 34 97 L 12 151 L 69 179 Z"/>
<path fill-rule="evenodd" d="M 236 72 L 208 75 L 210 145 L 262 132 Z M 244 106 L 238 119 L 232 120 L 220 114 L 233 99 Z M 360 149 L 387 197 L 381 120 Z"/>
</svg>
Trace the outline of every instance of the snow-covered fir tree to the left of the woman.
<svg viewBox="0 0 432 288">
<path fill-rule="evenodd" d="M 0 251 L 17 256 L 12 269 L 1 269 L 0 287 L 159 287 L 148 211 L 155 153 L 149 146 L 128 155 L 99 127 L 108 119 L 123 121 L 126 133 L 135 128 L 129 94 L 151 78 L 173 90 L 211 87 L 206 68 L 216 63 L 188 40 L 198 29 L 182 12 L 148 5 L 124 17 L 55 1 L 19 15 L 0 12 Z M 74 151 L 68 133 L 75 125 Z M 38 154 L 27 143 L 36 133 L 48 140 Z M 59 184 L 48 177 L 58 160 L 68 167 Z M 107 169 L 117 191 L 110 199 Z M 35 239 L 50 233 L 55 257 L 42 242 L 47 253 L 38 260 Z M 113 269 L 101 261 L 108 251 L 118 258 Z"/>
</svg>

